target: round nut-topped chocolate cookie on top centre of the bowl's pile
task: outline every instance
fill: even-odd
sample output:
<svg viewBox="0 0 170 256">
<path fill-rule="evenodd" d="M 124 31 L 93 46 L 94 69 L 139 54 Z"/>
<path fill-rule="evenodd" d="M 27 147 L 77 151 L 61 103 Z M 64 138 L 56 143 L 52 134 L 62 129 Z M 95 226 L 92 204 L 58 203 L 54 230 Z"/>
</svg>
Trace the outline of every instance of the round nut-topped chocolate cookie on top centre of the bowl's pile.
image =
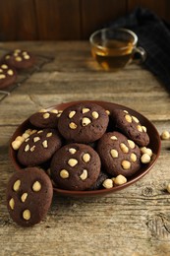
<svg viewBox="0 0 170 256">
<path fill-rule="evenodd" d="M 90 102 L 78 103 L 63 111 L 58 129 L 66 140 L 87 144 L 101 138 L 108 120 L 108 114 L 101 106 Z"/>
</svg>

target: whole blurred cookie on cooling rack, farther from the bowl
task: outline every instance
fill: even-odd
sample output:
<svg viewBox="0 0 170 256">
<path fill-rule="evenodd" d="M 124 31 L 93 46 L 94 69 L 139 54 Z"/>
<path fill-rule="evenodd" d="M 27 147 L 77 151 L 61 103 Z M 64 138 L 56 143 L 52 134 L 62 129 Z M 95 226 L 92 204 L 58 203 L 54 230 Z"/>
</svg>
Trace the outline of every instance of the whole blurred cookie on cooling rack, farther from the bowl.
<svg viewBox="0 0 170 256">
<path fill-rule="evenodd" d="M 35 63 L 35 57 L 26 50 L 15 49 L 4 56 L 4 61 L 16 69 L 28 69 Z"/>
</svg>

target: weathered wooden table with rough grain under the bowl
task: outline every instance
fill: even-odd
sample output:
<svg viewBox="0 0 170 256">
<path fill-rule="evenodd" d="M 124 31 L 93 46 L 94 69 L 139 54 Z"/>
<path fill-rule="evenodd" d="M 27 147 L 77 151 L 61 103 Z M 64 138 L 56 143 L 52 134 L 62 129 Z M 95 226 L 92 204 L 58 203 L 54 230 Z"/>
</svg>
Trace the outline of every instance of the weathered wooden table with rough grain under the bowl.
<svg viewBox="0 0 170 256">
<path fill-rule="evenodd" d="M 137 183 L 103 197 L 54 195 L 43 222 L 30 228 L 13 223 L 5 199 L 14 172 L 9 139 L 34 111 L 62 101 L 101 99 L 135 108 L 159 133 L 170 130 L 169 94 L 141 66 L 104 72 L 87 41 L 0 43 L 1 54 L 14 48 L 38 54 L 38 63 L 20 73 L 10 95 L 0 95 L 0 255 L 170 255 L 170 141 L 162 141 L 158 161 Z"/>
</svg>

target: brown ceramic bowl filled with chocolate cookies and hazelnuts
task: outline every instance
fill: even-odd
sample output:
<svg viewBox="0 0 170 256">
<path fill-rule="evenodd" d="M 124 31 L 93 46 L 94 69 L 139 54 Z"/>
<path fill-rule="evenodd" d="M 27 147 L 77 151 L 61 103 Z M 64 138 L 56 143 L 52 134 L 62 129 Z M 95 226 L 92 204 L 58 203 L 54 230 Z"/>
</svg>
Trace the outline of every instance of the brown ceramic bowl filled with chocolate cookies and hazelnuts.
<svg viewBox="0 0 170 256">
<path fill-rule="evenodd" d="M 75 103 L 80 103 L 80 102 L 83 102 L 83 101 L 72 101 L 72 102 L 61 103 L 61 104 L 50 106 L 48 109 L 63 110 L 70 105 L 73 105 Z M 96 100 L 84 100 L 84 102 L 93 102 L 93 103 L 99 104 L 102 107 L 104 107 L 105 109 L 108 109 L 110 112 L 114 108 L 121 108 L 124 110 L 128 110 L 133 115 L 137 116 L 137 118 L 141 121 L 142 125 L 144 125 L 147 128 L 147 133 L 150 138 L 150 143 L 147 146 L 147 148 L 150 148 L 152 150 L 153 156 L 149 163 L 142 164 L 141 169 L 136 174 L 134 174 L 133 176 L 128 178 L 128 182 L 123 185 L 115 186 L 110 189 L 103 188 L 103 189 L 90 190 L 90 191 L 71 191 L 71 190 L 64 190 L 64 189 L 59 189 L 59 188 L 54 187 L 54 192 L 56 192 L 60 195 L 84 197 L 84 196 L 99 196 L 99 195 L 101 196 L 101 195 L 104 195 L 107 193 L 113 193 L 117 190 L 126 188 L 126 187 L 132 185 L 133 183 L 135 183 L 136 181 L 138 181 L 139 179 L 141 179 L 142 176 L 144 176 L 153 167 L 153 165 L 155 164 L 156 160 L 159 157 L 160 147 L 161 147 L 160 136 L 159 136 L 156 128 L 154 127 L 154 125 L 147 118 L 145 118 L 141 113 L 137 112 L 134 109 L 126 107 L 124 105 L 119 105 L 119 104 L 111 103 L 111 102 L 96 101 Z M 28 128 L 31 128 L 31 126 L 27 119 L 25 122 L 23 122 L 17 128 L 17 130 L 15 131 L 15 133 L 13 134 L 13 136 L 11 138 L 11 142 L 13 142 L 17 136 L 22 135 Z M 11 147 L 11 143 L 10 143 L 10 159 L 12 160 L 12 163 L 16 170 L 19 170 L 23 167 L 17 160 L 17 152 L 13 150 L 13 148 Z"/>
</svg>

